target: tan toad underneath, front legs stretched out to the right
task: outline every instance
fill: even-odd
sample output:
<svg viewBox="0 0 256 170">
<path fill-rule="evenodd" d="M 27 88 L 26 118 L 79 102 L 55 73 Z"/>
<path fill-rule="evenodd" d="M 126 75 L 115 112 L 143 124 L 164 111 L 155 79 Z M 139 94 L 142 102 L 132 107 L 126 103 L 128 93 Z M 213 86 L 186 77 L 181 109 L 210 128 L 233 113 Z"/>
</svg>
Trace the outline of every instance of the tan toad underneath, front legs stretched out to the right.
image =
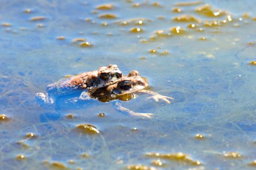
<svg viewBox="0 0 256 170">
<path fill-rule="evenodd" d="M 109 86 L 97 89 L 91 97 L 94 97 L 100 101 L 112 101 L 112 100 L 130 100 L 137 97 L 137 93 L 146 93 L 151 96 L 147 99 L 154 99 L 155 101 L 163 100 L 167 104 L 170 104 L 172 97 L 160 95 L 154 91 L 145 90 L 148 86 L 146 78 L 139 75 L 138 71 L 130 71 L 129 75 L 123 76 L 117 82 L 110 84 Z M 130 111 L 127 108 L 122 107 L 120 102 L 114 102 L 114 108 L 123 113 L 131 116 L 143 116 L 150 118 L 152 113 L 136 113 Z"/>
</svg>

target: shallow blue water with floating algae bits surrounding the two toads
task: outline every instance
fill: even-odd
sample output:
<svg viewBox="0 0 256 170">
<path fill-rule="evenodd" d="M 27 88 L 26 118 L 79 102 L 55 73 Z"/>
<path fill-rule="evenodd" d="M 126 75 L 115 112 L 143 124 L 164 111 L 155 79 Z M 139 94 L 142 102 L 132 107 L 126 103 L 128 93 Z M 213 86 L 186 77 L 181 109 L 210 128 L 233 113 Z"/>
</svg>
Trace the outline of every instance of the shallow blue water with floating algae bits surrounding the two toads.
<svg viewBox="0 0 256 170">
<path fill-rule="evenodd" d="M 0 169 L 255 168 L 256 1 L 154 2 L 0 2 L 0 114 L 9 118 L 0 119 Z M 113 9 L 97 9 L 106 3 Z M 196 12 L 205 3 L 212 11 Z M 181 15 L 187 21 L 174 20 Z M 38 16 L 44 18 L 33 19 Z M 80 46 L 77 38 L 91 45 Z M 174 100 L 156 103 L 139 94 L 122 102 L 154 113 L 151 119 L 121 114 L 110 103 L 60 112 L 36 104 L 34 94 L 47 84 L 110 63 L 125 74 L 138 70 L 151 90 Z M 81 133 L 78 124 L 100 134 Z M 192 160 L 148 152 L 183 152 Z M 165 165 L 152 164 L 155 159 Z"/>
</svg>

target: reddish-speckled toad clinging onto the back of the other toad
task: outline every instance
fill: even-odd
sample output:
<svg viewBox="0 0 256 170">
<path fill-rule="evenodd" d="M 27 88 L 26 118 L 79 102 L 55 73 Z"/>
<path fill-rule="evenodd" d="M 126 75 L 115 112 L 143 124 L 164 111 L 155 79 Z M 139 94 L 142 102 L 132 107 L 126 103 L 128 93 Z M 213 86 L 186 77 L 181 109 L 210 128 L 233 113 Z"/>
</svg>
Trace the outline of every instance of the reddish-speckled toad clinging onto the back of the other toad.
<svg viewBox="0 0 256 170">
<path fill-rule="evenodd" d="M 60 79 L 46 87 L 47 94 L 37 93 L 35 97 L 40 104 L 52 104 L 54 99 L 60 95 L 87 91 L 92 93 L 98 88 L 117 82 L 120 78 L 122 78 L 122 72 L 117 65 L 104 66 L 98 70 Z"/>
</svg>

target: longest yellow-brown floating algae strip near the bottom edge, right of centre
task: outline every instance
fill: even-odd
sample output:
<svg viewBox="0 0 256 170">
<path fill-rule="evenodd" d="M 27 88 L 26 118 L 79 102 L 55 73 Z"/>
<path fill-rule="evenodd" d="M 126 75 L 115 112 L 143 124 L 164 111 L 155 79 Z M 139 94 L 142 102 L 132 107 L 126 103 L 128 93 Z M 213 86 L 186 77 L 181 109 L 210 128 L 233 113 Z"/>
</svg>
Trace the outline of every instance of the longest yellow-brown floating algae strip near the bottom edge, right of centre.
<svg viewBox="0 0 256 170">
<path fill-rule="evenodd" d="M 188 163 L 190 165 L 201 165 L 201 162 L 199 160 L 193 160 L 192 158 L 189 157 L 189 155 L 183 154 L 183 152 L 177 152 L 176 154 L 160 154 L 158 152 L 146 153 L 146 156 L 153 157 L 153 158 L 162 158 L 162 159 L 168 159 L 168 160 L 182 161 L 182 162 Z"/>
</svg>

